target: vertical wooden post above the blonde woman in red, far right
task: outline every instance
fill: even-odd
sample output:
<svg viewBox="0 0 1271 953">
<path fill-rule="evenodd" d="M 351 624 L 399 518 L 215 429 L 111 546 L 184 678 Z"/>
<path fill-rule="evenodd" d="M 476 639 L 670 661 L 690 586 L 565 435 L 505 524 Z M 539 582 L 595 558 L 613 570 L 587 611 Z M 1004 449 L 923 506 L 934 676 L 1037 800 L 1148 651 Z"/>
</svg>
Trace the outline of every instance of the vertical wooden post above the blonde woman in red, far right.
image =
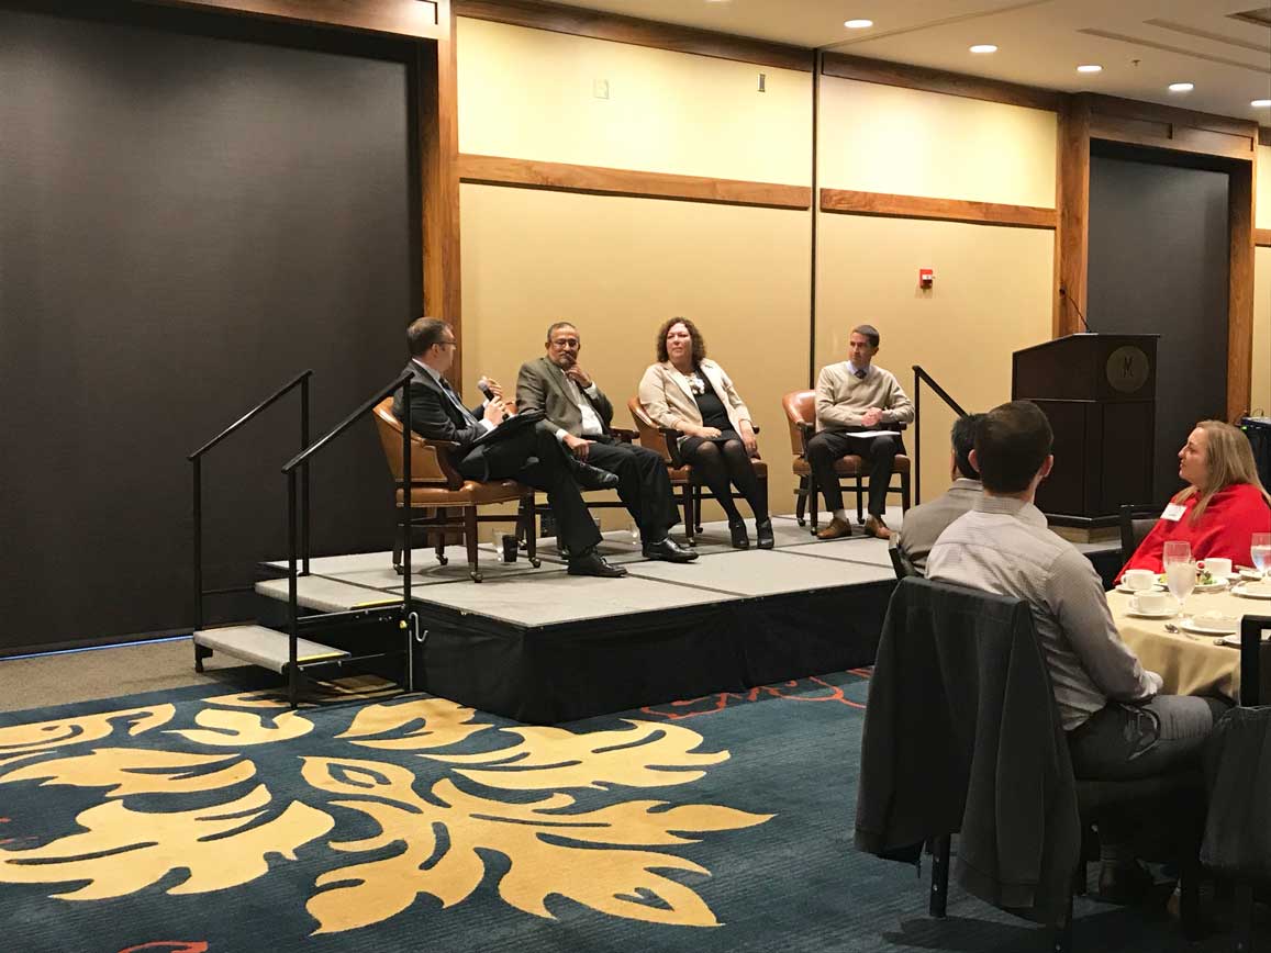
<svg viewBox="0 0 1271 953">
<path fill-rule="evenodd" d="M 1257 169 L 1240 164 L 1228 175 L 1230 263 L 1227 294 L 1227 419 L 1248 413 L 1253 394 L 1253 196 Z"/>
</svg>

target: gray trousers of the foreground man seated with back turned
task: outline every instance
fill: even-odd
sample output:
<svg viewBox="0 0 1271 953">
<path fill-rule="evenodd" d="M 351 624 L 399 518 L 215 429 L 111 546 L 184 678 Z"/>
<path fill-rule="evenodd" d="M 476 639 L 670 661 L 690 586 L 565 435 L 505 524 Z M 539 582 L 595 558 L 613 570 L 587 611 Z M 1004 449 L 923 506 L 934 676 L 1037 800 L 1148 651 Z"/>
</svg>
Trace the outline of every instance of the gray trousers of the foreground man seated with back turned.
<svg viewBox="0 0 1271 953">
<path fill-rule="evenodd" d="M 1110 701 L 1068 733 L 1073 773 L 1097 780 L 1134 780 L 1200 765 L 1221 699 L 1157 695 L 1144 705 Z"/>
</svg>

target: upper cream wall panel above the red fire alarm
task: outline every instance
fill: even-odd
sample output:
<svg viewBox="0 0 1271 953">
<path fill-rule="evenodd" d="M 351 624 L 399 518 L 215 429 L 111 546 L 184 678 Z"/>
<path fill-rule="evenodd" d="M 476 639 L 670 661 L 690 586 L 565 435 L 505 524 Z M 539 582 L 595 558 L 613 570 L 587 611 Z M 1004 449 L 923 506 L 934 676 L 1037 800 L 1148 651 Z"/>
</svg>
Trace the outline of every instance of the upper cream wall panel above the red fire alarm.
<svg viewBox="0 0 1271 953">
<path fill-rule="evenodd" d="M 1055 113 L 821 80 L 820 184 L 1055 207 Z"/>
</svg>

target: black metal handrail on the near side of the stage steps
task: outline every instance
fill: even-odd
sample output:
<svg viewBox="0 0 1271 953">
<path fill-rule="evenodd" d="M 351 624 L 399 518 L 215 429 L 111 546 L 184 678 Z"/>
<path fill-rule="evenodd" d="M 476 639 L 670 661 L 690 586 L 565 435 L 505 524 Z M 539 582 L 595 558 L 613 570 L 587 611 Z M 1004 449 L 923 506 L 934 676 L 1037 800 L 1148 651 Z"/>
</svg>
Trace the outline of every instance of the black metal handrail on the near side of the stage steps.
<svg viewBox="0 0 1271 953">
<path fill-rule="evenodd" d="M 290 665 L 287 666 L 287 695 L 291 701 L 291 706 L 296 706 L 296 701 L 300 693 L 300 666 L 296 651 L 296 643 L 300 638 L 300 598 L 299 598 L 299 582 L 296 572 L 296 564 L 299 562 L 299 537 L 296 530 L 296 470 L 301 469 L 305 474 L 309 471 L 309 459 L 314 456 L 319 450 L 329 445 L 336 437 L 342 435 L 350 427 L 352 427 L 357 421 L 360 421 L 365 414 L 367 414 L 377 403 L 384 398 L 395 394 L 398 390 L 402 391 L 402 503 L 403 513 L 402 522 L 404 526 L 405 545 L 403 546 L 404 553 L 402 554 L 403 569 L 402 576 L 402 628 L 405 630 L 407 639 L 407 671 L 408 671 L 408 685 L 409 690 L 414 690 L 414 665 L 413 665 L 413 652 L 412 639 L 414 633 L 409 626 L 411 619 L 411 380 L 414 375 L 409 371 L 404 372 L 400 377 L 394 380 L 389 386 L 376 391 L 375 396 L 369 398 L 364 402 L 353 413 L 336 424 L 334 428 L 327 436 L 320 437 L 311 446 L 305 446 L 296 456 L 289 460 L 283 468 L 282 473 L 287 478 L 287 546 L 289 546 L 289 562 L 287 562 L 287 640 L 290 642 Z M 305 572 L 308 573 L 308 558 L 305 563 Z"/>
</svg>

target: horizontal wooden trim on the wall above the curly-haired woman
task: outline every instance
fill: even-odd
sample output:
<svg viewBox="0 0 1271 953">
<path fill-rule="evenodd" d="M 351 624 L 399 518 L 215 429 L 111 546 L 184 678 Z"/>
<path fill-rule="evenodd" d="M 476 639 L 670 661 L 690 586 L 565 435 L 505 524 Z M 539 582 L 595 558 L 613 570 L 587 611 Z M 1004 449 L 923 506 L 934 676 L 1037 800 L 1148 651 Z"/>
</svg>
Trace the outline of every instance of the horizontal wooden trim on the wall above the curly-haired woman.
<svg viewBox="0 0 1271 953">
<path fill-rule="evenodd" d="M 519 186 L 553 192 L 672 198 L 805 211 L 812 205 L 812 189 L 806 186 L 606 169 L 599 165 L 571 165 L 466 152 L 459 156 L 459 174 L 464 182 L 483 186 Z"/>
</svg>

